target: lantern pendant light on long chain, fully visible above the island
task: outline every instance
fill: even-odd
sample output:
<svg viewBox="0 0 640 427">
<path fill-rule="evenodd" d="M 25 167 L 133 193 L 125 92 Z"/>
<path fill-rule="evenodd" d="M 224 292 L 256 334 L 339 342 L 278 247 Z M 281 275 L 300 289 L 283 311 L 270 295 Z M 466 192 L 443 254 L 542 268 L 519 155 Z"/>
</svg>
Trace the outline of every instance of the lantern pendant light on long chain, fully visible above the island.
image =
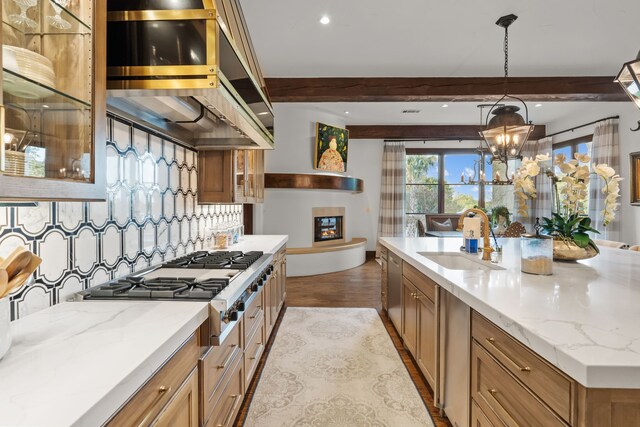
<svg viewBox="0 0 640 427">
<path fill-rule="evenodd" d="M 481 125 L 480 135 L 487 144 L 493 160 L 507 163 L 510 159 L 521 158 L 522 147 L 529 139 L 534 125 L 529 122 L 527 104 L 520 98 L 509 95 L 509 26 L 518 19 L 516 15 L 502 16 L 496 25 L 504 28 L 504 95 L 487 112 Z M 524 106 L 525 117 L 518 111 L 517 105 L 501 104 L 505 100 L 516 100 Z"/>
</svg>

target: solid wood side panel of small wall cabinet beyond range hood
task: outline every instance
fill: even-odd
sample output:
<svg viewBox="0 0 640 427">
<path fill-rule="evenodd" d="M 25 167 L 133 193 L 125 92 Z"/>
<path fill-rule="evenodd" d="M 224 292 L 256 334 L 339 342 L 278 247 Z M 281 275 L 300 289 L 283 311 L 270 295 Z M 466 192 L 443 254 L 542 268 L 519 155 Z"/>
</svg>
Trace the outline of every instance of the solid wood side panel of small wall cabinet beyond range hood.
<svg viewBox="0 0 640 427">
<path fill-rule="evenodd" d="M 198 154 L 198 203 L 234 203 L 235 175 L 231 150 Z"/>
</svg>

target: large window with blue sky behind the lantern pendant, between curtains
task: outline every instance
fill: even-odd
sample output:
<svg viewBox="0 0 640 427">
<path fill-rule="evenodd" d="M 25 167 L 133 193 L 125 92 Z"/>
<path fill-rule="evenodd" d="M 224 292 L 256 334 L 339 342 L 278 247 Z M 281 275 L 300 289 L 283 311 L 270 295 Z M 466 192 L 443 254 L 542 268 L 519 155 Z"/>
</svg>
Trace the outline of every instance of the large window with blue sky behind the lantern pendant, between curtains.
<svg viewBox="0 0 640 427">
<path fill-rule="evenodd" d="M 456 214 L 474 206 L 503 205 L 513 211 L 513 187 L 480 183 L 480 174 L 492 180 L 515 171 L 515 162 L 491 164 L 490 155 L 470 150 L 408 149 L 406 157 L 405 223 L 416 235 L 417 220 L 425 215 Z M 471 183 L 470 183 L 471 181 Z"/>
</svg>

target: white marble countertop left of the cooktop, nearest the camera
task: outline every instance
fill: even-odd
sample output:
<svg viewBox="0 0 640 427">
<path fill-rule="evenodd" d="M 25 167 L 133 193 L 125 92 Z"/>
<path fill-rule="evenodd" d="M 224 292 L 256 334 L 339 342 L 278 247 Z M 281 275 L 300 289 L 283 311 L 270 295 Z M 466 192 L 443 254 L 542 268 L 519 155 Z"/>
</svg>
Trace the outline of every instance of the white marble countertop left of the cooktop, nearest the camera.
<svg viewBox="0 0 640 427">
<path fill-rule="evenodd" d="M 209 316 L 207 302 L 65 302 L 11 324 L 0 425 L 98 426 Z"/>
</svg>

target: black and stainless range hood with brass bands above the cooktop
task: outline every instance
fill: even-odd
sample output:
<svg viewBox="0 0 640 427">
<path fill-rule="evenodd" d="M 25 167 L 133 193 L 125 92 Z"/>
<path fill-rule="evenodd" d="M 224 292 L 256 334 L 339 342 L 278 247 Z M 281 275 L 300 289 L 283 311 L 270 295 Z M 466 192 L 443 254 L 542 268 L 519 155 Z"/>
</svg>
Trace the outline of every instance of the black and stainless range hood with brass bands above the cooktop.
<svg viewBox="0 0 640 427">
<path fill-rule="evenodd" d="M 107 105 L 193 147 L 273 148 L 273 110 L 213 0 L 109 0 Z"/>
</svg>

